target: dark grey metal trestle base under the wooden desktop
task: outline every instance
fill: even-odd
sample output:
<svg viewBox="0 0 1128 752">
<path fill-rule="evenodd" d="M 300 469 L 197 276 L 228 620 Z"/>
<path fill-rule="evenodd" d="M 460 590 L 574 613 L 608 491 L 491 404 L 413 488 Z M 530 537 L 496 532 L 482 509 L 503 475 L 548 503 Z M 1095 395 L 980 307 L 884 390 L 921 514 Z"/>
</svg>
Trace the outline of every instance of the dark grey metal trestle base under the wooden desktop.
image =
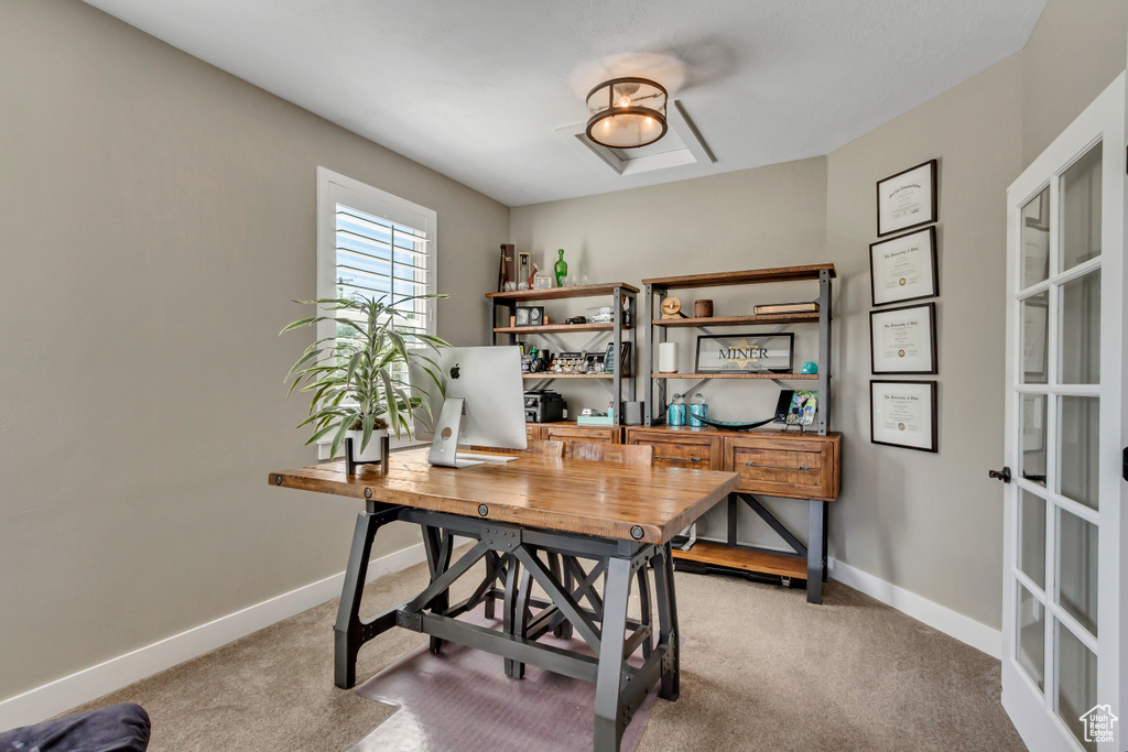
<svg viewBox="0 0 1128 752">
<path fill-rule="evenodd" d="M 412 600 L 387 609 L 368 621 L 360 618 L 368 560 L 380 527 L 393 521 L 422 525 L 430 584 Z M 476 543 L 451 563 L 453 536 Z M 546 565 L 540 554 L 547 555 Z M 557 559 L 558 557 L 558 559 Z M 580 559 L 594 559 L 585 569 Z M 485 577 L 466 600 L 451 605 L 450 586 L 479 561 Z M 658 625 L 652 622 L 650 573 Z M 603 577 L 603 595 L 594 583 Z M 504 590 L 496 584 L 504 582 Z M 532 582 L 548 600 L 531 595 Z M 642 616 L 631 619 L 627 603 L 637 582 Z M 495 599 L 503 601 L 501 630 L 459 621 L 457 617 L 485 603 L 488 618 Z M 587 605 L 583 604 L 587 601 Z M 540 609 L 534 616 L 532 610 Z M 526 530 L 488 519 L 465 517 L 405 506 L 369 502 L 356 519 L 334 626 L 334 683 L 346 689 L 356 683 L 356 655 L 365 643 L 393 627 L 423 632 L 431 651 L 447 642 L 493 653 L 504 658 L 505 673 L 525 675 L 525 665 L 596 684 L 594 749 L 619 749 L 623 732 L 647 691 L 661 682 L 659 697 L 678 698 L 679 656 L 673 564 L 669 543 L 640 543 Z M 598 657 L 538 643 L 548 631 L 574 629 Z M 655 639 L 656 637 L 656 639 Z M 626 658 L 642 647 L 642 666 Z"/>
</svg>

